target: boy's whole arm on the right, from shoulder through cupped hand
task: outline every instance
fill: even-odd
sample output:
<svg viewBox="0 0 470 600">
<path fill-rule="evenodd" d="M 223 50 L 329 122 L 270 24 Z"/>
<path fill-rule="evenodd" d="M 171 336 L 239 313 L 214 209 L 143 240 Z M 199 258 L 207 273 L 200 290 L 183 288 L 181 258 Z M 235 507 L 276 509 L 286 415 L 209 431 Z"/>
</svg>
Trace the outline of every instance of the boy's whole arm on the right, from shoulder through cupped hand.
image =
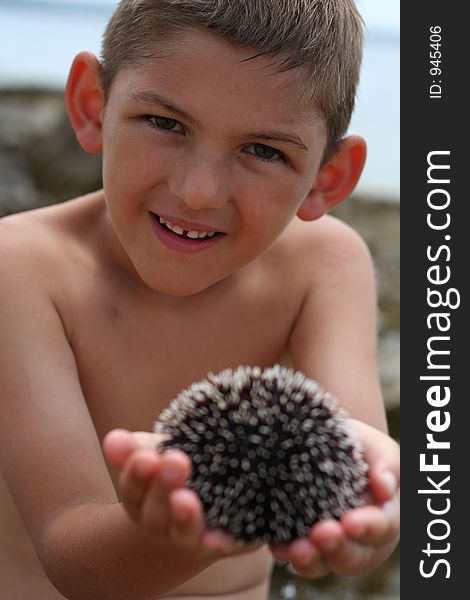
<svg viewBox="0 0 470 600">
<path fill-rule="evenodd" d="M 377 566 L 399 528 L 399 448 L 386 435 L 376 360 L 376 292 L 364 242 L 330 219 L 311 252 L 310 285 L 291 333 L 293 366 L 331 391 L 352 418 L 369 462 L 369 506 L 317 524 L 306 540 L 274 551 L 308 577 L 354 575 Z M 354 421 L 353 419 L 357 419 Z"/>
</svg>

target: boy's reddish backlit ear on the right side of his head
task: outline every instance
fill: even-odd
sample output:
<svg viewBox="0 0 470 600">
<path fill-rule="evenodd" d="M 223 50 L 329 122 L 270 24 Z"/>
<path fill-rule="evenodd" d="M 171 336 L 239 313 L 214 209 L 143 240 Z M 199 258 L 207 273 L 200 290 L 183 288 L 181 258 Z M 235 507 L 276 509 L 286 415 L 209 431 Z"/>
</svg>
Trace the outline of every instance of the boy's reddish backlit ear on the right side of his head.
<svg viewBox="0 0 470 600">
<path fill-rule="evenodd" d="M 334 156 L 320 169 L 297 216 L 303 221 L 313 221 L 347 198 L 362 173 L 366 154 L 366 143 L 360 136 L 342 140 Z"/>
</svg>

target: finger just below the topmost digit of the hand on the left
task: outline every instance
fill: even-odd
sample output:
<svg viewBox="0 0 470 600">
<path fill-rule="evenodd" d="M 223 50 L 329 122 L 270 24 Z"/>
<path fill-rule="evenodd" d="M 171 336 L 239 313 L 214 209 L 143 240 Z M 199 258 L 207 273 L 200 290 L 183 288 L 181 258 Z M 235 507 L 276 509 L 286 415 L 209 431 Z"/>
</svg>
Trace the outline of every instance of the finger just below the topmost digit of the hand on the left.
<svg viewBox="0 0 470 600">
<path fill-rule="evenodd" d="M 119 478 L 121 500 L 130 516 L 140 520 L 140 511 L 155 473 L 161 463 L 161 456 L 148 449 L 135 450 L 124 465 Z"/>
</svg>

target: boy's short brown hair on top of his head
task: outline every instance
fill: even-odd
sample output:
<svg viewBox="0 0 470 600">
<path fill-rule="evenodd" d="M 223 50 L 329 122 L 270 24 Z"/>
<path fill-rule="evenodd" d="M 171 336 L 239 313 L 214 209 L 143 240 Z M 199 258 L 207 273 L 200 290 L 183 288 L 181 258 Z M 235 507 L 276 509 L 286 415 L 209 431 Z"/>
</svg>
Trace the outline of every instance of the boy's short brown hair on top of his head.
<svg viewBox="0 0 470 600">
<path fill-rule="evenodd" d="M 103 41 L 105 98 L 122 68 L 194 27 L 268 56 L 279 70 L 299 68 L 303 93 L 325 120 L 328 160 L 349 125 L 359 79 L 362 22 L 354 0 L 122 0 Z"/>
</svg>

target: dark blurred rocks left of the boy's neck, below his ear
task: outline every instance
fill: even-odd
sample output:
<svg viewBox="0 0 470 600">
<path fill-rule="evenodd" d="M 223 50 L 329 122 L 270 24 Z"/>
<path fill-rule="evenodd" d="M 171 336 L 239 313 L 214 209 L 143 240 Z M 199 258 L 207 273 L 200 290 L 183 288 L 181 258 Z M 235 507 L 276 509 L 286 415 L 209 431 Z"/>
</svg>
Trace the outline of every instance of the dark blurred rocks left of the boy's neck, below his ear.
<svg viewBox="0 0 470 600">
<path fill-rule="evenodd" d="M 80 148 L 62 93 L 0 92 L 0 186 L 0 216 L 101 187 L 100 157 Z"/>
</svg>

